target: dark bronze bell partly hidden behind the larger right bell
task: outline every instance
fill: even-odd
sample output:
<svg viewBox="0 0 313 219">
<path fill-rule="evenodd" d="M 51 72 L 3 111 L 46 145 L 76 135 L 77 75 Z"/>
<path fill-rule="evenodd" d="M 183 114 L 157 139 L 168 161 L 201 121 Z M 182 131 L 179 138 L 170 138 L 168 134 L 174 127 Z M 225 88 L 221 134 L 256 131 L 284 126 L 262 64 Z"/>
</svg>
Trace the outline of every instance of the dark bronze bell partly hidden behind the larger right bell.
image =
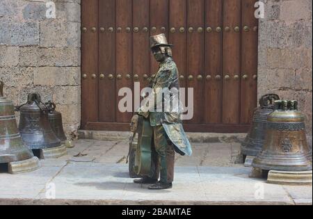
<svg viewBox="0 0 313 219">
<path fill-rule="evenodd" d="M 274 111 L 274 102 L 278 99 L 280 99 L 280 97 L 275 94 L 267 94 L 259 99 L 259 107 L 255 108 L 252 112 L 250 131 L 241 144 L 241 154 L 243 154 L 243 156 L 257 156 L 262 150 L 267 116 Z"/>
</svg>

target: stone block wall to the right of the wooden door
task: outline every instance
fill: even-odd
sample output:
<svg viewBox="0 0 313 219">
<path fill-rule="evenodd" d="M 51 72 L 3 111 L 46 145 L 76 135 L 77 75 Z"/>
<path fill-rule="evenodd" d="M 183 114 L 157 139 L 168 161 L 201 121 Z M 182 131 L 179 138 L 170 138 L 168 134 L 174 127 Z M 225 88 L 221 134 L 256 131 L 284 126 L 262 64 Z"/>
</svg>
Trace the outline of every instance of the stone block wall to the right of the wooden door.
<svg viewBox="0 0 313 219">
<path fill-rule="evenodd" d="M 312 144 L 312 0 L 264 0 L 259 20 L 258 95 L 297 99 Z"/>
</svg>

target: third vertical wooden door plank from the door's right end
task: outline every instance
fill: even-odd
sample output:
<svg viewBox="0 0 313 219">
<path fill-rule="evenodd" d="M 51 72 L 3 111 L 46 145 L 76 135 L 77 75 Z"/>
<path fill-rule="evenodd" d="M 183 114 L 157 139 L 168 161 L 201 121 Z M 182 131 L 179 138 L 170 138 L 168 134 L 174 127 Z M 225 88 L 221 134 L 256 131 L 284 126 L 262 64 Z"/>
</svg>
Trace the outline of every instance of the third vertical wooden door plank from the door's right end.
<svg viewBox="0 0 313 219">
<path fill-rule="evenodd" d="M 205 1 L 204 104 L 205 124 L 220 124 L 223 112 L 223 0 Z"/>
</svg>

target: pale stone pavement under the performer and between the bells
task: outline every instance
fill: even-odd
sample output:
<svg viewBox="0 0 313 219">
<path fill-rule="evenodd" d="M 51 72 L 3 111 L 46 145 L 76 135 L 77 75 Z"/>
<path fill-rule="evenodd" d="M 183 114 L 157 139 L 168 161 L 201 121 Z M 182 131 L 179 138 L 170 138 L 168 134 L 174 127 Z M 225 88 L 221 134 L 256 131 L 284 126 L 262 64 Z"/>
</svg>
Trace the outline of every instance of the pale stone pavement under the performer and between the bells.
<svg viewBox="0 0 313 219">
<path fill-rule="evenodd" d="M 42 168 L 0 173 L 0 204 L 312 204 L 312 186 L 266 184 L 235 164 L 239 143 L 193 143 L 193 156 L 177 155 L 171 190 L 134 184 L 125 140 L 78 140 L 67 156 Z"/>
</svg>

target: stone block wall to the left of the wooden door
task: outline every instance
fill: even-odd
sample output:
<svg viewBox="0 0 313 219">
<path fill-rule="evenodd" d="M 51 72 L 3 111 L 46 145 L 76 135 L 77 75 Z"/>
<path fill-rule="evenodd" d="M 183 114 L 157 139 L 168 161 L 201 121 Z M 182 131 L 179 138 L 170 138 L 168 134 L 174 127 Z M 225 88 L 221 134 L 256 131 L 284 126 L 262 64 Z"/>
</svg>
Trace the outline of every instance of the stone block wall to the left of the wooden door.
<svg viewBox="0 0 313 219">
<path fill-rule="evenodd" d="M 0 78 L 15 105 L 29 92 L 52 99 L 63 114 L 67 135 L 80 124 L 80 0 L 0 0 Z"/>
</svg>

